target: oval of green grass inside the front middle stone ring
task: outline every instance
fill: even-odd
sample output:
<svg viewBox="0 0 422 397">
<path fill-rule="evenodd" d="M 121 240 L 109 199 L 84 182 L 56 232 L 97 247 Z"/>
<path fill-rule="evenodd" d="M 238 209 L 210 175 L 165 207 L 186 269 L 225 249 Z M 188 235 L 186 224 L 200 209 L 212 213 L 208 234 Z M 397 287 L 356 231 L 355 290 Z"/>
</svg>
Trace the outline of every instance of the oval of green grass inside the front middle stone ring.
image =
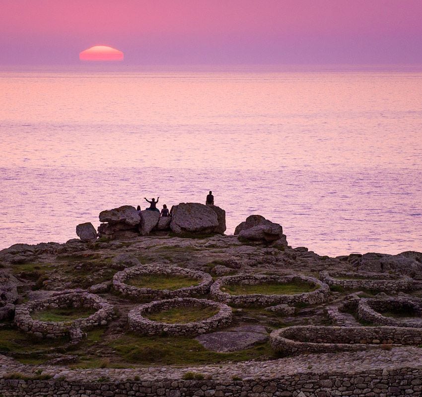
<svg viewBox="0 0 422 397">
<path fill-rule="evenodd" d="M 202 321 L 218 313 L 213 307 L 176 307 L 162 312 L 150 313 L 149 320 L 168 324 L 184 324 Z"/>
</svg>

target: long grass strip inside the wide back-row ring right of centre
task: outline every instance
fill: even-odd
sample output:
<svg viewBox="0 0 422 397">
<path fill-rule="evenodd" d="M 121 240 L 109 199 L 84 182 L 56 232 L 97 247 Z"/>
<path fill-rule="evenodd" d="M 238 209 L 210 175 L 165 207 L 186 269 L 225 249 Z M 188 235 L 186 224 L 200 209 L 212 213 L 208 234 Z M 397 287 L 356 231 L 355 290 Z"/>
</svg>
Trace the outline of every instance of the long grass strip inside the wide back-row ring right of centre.
<svg viewBox="0 0 422 397">
<path fill-rule="evenodd" d="M 307 282 L 294 283 L 261 283 L 256 285 L 248 284 L 227 284 L 221 287 L 221 290 L 231 295 L 294 295 L 303 292 L 315 291 L 318 287 Z"/>
</svg>

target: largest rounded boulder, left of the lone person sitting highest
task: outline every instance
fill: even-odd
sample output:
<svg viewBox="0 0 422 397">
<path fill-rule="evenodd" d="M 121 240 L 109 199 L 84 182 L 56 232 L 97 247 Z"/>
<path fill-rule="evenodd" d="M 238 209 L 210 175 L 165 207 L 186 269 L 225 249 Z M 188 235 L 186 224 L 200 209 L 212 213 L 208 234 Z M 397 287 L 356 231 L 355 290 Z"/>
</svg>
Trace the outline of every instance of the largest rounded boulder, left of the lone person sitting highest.
<svg viewBox="0 0 422 397">
<path fill-rule="evenodd" d="M 172 208 L 170 229 L 176 234 L 215 233 L 218 217 L 210 206 L 198 202 L 181 202 Z"/>
</svg>

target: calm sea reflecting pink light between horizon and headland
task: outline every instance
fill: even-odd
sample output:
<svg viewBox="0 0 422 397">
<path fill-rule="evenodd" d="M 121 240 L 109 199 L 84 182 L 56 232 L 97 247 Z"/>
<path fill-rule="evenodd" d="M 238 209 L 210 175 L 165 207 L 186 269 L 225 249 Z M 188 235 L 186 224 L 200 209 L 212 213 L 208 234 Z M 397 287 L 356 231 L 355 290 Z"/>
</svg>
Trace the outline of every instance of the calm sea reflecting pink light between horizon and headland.
<svg viewBox="0 0 422 397">
<path fill-rule="evenodd" d="M 422 251 L 421 67 L 9 68 L 0 91 L 0 249 L 212 190 L 226 233 Z"/>
</svg>

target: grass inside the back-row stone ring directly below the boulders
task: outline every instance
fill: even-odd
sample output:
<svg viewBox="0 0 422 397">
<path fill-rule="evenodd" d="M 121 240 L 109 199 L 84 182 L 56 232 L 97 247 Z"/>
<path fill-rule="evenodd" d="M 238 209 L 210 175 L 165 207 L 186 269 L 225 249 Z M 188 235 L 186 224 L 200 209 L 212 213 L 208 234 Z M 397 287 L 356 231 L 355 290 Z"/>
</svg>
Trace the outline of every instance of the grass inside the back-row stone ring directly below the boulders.
<svg viewBox="0 0 422 397">
<path fill-rule="evenodd" d="M 130 278 L 127 283 L 138 288 L 168 289 L 174 291 L 183 287 L 198 285 L 200 280 L 178 274 L 141 274 Z"/>
</svg>

